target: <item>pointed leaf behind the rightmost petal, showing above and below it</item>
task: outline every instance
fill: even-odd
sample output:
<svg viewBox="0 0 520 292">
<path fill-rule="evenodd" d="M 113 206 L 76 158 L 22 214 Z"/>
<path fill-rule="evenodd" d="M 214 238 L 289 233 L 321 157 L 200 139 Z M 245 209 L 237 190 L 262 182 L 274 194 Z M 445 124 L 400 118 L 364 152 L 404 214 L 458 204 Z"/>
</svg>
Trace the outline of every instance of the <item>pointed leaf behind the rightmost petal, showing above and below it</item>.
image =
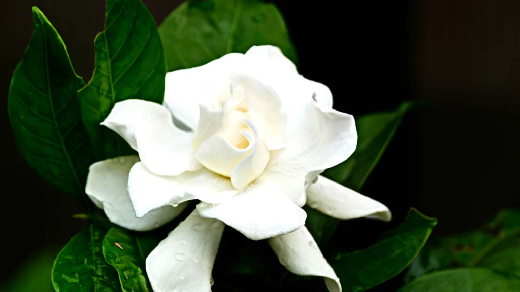
<svg viewBox="0 0 520 292">
<path fill-rule="evenodd" d="M 359 191 L 378 164 L 386 147 L 394 137 L 397 127 L 414 103 L 404 102 L 392 112 L 370 113 L 356 117 L 358 144 L 356 151 L 345 162 L 329 168 L 323 176 Z M 308 206 L 309 232 L 320 247 L 327 246 L 340 220 L 326 216 Z"/>
</svg>

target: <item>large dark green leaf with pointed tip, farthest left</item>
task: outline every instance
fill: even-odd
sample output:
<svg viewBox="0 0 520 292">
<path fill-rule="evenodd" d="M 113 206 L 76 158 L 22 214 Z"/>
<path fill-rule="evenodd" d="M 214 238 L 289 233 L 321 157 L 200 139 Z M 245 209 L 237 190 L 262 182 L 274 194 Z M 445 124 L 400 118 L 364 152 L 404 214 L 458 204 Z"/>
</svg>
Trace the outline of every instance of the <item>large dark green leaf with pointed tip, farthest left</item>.
<svg viewBox="0 0 520 292">
<path fill-rule="evenodd" d="M 9 88 L 9 121 L 20 153 L 44 180 L 87 208 L 84 195 L 92 151 L 76 91 L 83 79 L 53 25 L 33 7 L 34 32 Z"/>
</svg>

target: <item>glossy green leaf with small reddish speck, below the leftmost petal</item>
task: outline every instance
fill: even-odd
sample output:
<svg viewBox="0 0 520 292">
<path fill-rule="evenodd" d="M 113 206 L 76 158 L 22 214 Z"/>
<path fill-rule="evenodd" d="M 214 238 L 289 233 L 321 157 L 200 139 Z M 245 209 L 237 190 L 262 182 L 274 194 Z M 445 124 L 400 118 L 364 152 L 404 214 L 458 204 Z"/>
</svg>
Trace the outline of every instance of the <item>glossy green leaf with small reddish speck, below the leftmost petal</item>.
<svg viewBox="0 0 520 292">
<path fill-rule="evenodd" d="M 146 280 L 145 263 L 159 242 L 145 236 L 111 228 L 103 240 L 105 260 L 118 270 L 124 292 L 152 291 Z"/>
</svg>

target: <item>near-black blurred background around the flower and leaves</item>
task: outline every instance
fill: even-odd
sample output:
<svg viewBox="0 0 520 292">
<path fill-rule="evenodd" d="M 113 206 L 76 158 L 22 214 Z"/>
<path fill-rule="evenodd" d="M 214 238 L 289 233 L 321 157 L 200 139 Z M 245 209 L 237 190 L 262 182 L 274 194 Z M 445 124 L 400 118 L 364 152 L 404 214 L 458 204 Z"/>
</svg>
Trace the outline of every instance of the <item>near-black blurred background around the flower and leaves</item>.
<svg viewBox="0 0 520 292">
<path fill-rule="evenodd" d="M 328 85 L 336 109 L 357 115 L 393 110 L 405 100 L 432 104 L 405 118 L 363 188 L 393 211 L 394 223 L 384 228 L 402 221 L 412 206 L 439 219 L 437 235 L 475 228 L 501 208 L 520 207 L 520 2 L 275 2 L 291 32 L 300 73 Z M 180 1 L 144 3 L 160 23 Z M 1 281 L 42 250 L 57 254 L 85 225 L 71 219 L 83 210 L 42 181 L 12 139 L 9 82 L 31 38 L 33 5 L 61 34 L 85 81 L 105 16 L 104 0 L 0 2 Z M 370 228 L 349 228 L 343 230 L 350 231 L 350 240 L 373 237 Z M 375 226 L 376 232 L 384 228 Z M 399 285 L 397 278 L 374 291 Z"/>
</svg>

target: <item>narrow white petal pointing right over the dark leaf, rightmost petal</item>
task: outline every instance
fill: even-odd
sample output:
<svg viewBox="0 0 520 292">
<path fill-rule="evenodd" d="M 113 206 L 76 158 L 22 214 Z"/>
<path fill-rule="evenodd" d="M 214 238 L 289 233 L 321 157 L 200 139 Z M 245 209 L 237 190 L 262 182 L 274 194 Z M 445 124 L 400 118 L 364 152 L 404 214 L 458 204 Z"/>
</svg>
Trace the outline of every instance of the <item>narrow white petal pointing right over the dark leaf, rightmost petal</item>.
<svg viewBox="0 0 520 292">
<path fill-rule="evenodd" d="M 337 219 L 392 218 L 385 205 L 322 176 L 307 189 L 307 204 Z"/>
</svg>

